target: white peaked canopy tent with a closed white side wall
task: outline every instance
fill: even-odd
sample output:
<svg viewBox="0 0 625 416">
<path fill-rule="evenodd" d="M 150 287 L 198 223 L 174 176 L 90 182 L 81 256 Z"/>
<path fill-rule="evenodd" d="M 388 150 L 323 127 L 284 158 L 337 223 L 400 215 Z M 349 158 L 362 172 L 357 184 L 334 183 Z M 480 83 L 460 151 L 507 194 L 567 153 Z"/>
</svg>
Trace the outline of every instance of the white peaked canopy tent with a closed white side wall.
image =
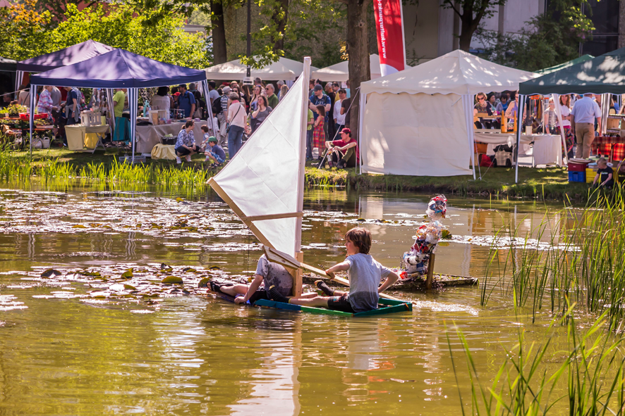
<svg viewBox="0 0 625 416">
<path fill-rule="evenodd" d="M 473 96 L 515 91 L 538 75 L 456 50 L 360 84 L 361 172 L 470 175 Z"/>
</svg>

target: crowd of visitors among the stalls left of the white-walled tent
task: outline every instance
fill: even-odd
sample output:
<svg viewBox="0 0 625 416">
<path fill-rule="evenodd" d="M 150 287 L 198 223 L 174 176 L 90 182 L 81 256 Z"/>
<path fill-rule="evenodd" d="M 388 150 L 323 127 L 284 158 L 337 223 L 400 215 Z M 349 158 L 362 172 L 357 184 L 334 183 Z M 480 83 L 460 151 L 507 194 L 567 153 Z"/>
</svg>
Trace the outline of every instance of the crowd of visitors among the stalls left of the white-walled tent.
<svg viewBox="0 0 625 416">
<path fill-rule="evenodd" d="M 338 82 L 322 85 L 320 80 L 310 80 L 309 87 L 306 159 L 311 161 L 315 158 L 316 165 L 320 167 L 356 166 L 359 154 L 350 130 L 349 84 L 341 87 Z M 48 115 L 50 123 L 54 124 L 55 134 L 58 132 L 63 144 L 67 144 L 64 127 L 80 123 L 81 111 L 109 111 L 109 98 L 104 89 L 87 91 L 75 87 L 44 86 L 36 92 L 37 113 Z M 178 133 L 178 163 L 181 163 L 182 158 L 189 160 L 190 156 L 201 150 L 193 141 L 193 120 L 208 120 L 208 131 L 202 143 L 209 149 L 207 160 L 223 163 L 223 149 L 227 146 L 229 157 L 235 156 L 245 137 L 257 130 L 288 92 L 289 87 L 285 82 L 265 83 L 260 78 L 256 78 L 252 85 L 240 85 L 232 81 L 218 86 L 216 82 L 209 81 L 205 96 L 198 91 L 198 84 L 180 84 L 176 87 L 159 87 L 153 96 L 141 90 L 144 105 L 139 106 L 138 112 L 145 116 L 147 111 L 162 110 L 164 122 L 169 122 L 171 118 L 192 122 Z M 30 85 L 20 90 L 16 101 L 9 95 L 4 97 L 4 106 L 19 103 L 28 107 Z M 114 119 L 115 129 L 110 139 L 130 146 L 128 90 L 115 89 L 111 101 L 113 114 L 109 114 L 109 118 Z M 214 141 L 208 141 L 210 137 Z M 215 149 L 215 146 L 217 153 L 211 154 L 210 149 Z"/>
</svg>

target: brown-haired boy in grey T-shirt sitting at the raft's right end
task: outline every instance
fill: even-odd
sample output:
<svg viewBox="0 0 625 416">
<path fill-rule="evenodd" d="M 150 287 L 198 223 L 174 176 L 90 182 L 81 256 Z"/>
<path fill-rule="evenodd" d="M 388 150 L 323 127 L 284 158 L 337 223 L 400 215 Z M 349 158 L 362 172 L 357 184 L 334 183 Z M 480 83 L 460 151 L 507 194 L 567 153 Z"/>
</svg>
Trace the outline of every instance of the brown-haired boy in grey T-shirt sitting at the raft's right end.
<svg viewBox="0 0 625 416">
<path fill-rule="evenodd" d="M 314 298 L 287 298 L 284 291 L 269 287 L 269 297 L 274 301 L 302 306 L 322 306 L 331 310 L 348 313 L 365 312 L 377 309 L 380 292 L 397 282 L 399 275 L 388 267 L 377 263 L 369 254 L 371 233 L 366 228 L 352 228 L 345 234 L 347 257 L 344 262 L 330 267 L 326 272 L 334 278 L 334 272 L 347 270 L 349 291 L 336 291 L 317 280 L 315 284 L 327 296 Z M 380 280 L 386 277 L 382 286 Z M 379 287 L 378 287 L 379 286 Z"/>
</svg>

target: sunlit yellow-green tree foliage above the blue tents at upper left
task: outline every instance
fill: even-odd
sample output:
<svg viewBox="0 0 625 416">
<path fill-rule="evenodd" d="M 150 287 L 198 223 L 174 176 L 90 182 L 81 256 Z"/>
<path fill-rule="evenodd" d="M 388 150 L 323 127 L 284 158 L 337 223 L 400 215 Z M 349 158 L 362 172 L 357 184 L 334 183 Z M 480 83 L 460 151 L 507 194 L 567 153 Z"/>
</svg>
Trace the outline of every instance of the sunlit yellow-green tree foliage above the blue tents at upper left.
<svg viewBox="0 0 625 416">
<path fill-rule="evenodd" d="M 28 20 L 32 22 L 28 30 L 22 30 L 35 33 L 36 46 L 24 45 L 21 36 L 13 35 L 6 38 L 9 45 L 0 46 L 0 51 L 4 49 L 4 56 L 23 60 L 93 39 L 174 65 L 190 68 L 210 65 L 210 50 L 203 34 L 182 30 L 183 19 L 176 15 L 164 16 L 153 23 L 152 18 L 151 12 L 126 4 L 100 4 L 79 11 L 70 3 L 66 5 L 63 20 L 54 28 L 50 28 L 49 20 Z M 20 23 L 23 22 L 16 16 L 10 25 Z"/>
</svg>

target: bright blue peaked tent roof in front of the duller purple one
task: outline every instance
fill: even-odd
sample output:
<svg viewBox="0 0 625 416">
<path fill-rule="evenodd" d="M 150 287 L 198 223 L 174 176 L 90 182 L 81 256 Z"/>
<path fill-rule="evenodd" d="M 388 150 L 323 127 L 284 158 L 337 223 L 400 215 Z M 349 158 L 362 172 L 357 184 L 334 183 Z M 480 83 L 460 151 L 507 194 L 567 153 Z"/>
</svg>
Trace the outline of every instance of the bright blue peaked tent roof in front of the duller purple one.
<svg viewBox="0 0 625 416">
<path fill-rule="evenodd" d="M 85 88 L 148 88 L 202 80 L 206 80 L 203 70 L 154 61 L 123 49 L 30 77 L 35 85 Z"/>
</svg>

